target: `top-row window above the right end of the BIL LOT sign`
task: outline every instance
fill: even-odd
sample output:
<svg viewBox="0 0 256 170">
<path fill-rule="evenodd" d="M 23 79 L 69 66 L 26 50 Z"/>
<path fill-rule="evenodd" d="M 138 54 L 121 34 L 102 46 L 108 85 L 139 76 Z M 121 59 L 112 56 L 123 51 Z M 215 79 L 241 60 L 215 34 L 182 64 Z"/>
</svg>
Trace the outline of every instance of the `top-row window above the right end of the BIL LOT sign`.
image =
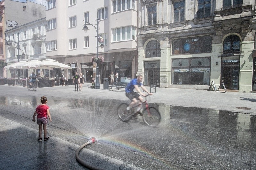
<svg viewBox="0 0 256 170">
<path fill-rule="evenodd" d="M 211 0 L 198 0 L 197 18 L 210 17 L 210 14 L 211 14 Z"/>
</svg>

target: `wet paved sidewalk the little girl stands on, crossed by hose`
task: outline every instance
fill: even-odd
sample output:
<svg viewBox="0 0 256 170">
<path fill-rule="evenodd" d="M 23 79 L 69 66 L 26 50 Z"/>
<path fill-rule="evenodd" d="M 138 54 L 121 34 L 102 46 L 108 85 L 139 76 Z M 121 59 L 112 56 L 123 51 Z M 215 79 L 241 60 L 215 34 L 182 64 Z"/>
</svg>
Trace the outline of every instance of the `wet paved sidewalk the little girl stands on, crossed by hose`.
<svg viewBox="0 0 256 170">
<path fill-rule="evenodd" d="M 38 130 L 0 116 L 0 169 L 86 169 L 76 161 L 76 144 L 51 136 L 38 142 Z M 90 166 L 109 170 L 140 170 L 131 164 L 89 149 L 79 154 Z"/>
</svg>

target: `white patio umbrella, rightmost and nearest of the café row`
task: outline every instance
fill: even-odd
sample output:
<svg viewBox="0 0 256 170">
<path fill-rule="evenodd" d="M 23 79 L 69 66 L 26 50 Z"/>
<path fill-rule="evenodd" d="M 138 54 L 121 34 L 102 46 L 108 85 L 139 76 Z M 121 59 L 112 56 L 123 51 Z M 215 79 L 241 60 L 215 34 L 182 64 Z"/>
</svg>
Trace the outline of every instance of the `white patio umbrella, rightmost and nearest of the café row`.
<svg viewBox="0 0 256 170">
<path fill-rule="evenodd" d="M 50 59 L 50 58 L 38 63 L 37 68 L 40 68 L 40 69 L 52 69 L 53 68 L 53 69 L 61 69 L 61 70 L 72 69 L 72 67 L 70 67 L 66 64 L 59 63 L 58 61 Z"/>
</svg>

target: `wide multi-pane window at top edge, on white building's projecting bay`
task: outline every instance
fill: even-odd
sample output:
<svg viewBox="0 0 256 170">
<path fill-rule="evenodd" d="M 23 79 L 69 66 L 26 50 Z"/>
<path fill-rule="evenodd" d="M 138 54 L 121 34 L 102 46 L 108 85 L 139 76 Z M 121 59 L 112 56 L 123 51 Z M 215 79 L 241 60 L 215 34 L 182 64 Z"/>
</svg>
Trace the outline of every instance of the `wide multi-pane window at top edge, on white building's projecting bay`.
<svg viewBox="0 0 256 170">
<path fill-rule="evenodd" d="M 135 9 L 135 0 L 113 0 L 113 12 Z"/>
</svg>

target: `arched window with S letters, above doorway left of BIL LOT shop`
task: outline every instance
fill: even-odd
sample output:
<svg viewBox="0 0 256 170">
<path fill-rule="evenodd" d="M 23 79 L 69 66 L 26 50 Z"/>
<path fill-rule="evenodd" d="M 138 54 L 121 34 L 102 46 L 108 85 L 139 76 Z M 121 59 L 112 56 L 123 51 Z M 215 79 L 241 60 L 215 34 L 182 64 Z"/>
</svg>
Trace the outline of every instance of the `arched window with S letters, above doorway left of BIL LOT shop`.
<svg viewBox="0 0 256 170">
<path fill-rule="evenodd" d="M 146 58 L 160 57 L 160 56 L 161 56 L 160 43 L 156 40 L 149 41 L 146 46 Z"/>
</svg>

